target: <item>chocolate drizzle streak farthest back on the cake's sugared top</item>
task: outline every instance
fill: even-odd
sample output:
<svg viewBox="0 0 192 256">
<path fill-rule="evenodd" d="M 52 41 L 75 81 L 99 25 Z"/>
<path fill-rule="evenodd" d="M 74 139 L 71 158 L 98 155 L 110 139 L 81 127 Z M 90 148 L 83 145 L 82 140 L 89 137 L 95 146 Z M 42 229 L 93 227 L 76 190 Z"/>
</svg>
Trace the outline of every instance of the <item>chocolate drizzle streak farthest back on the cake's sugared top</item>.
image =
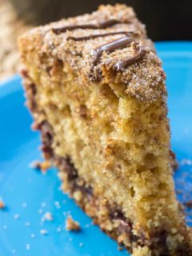
<svg viewBox="0 0 192 256">
<path fill-rule="evenodd" d="M 71 26 L 61 26 L 58 28 L 53 28 L 52 31 L 54 34 L 60 34 L 64 33 L 67 30 L 77 30 L 77 29 L 82 29 L 82 30 L 105 30 L 107 27 L 114 26 L 116 24 L 120 23 L 125 23 L 121 22 L 117 19 L 110 19 L 106 22 L 99 23 L 98 25 L 94 24 L 82 24 L 82 25 L 71 25 Z"/>
</svg>

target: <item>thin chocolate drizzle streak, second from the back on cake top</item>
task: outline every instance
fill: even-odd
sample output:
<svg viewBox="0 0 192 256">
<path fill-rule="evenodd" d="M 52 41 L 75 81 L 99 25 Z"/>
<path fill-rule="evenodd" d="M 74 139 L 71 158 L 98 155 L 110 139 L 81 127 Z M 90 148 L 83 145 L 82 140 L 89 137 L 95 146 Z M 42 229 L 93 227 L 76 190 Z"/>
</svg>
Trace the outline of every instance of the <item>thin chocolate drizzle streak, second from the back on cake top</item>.
<svg viewBox="0 0 192 256">
<path fill-rule="evenodd" d="M 66 40 L 74 40 L 74 41 L 83 41 L 83 40 L 90 40 L 90 39 L 94 39 L 94 38 L 104 38 L 110 35 L 115 35 L 115 34 L 126 34 L 127 36 L 136 34 L 133 31 L 118 31 L 118 32 L 109 32 L 109 33 L 104 33 L 104 34 L 90 34 L 88 36 L 85 37 L 68 37 Z"/>
</svg>

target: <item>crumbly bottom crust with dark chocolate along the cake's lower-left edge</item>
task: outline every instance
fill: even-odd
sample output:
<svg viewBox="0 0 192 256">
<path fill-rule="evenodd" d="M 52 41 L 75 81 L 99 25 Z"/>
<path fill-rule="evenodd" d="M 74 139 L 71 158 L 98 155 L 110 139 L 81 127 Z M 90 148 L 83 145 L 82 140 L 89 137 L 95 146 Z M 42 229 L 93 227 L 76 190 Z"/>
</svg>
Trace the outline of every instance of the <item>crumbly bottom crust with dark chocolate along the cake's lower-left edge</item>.
<svg viewBox="0 0 192 256">
<path fill-rule="evenodd" d="M 176 254 L 170 254 L 167 246 L 167 232 L 160 232 L 146 237 L 144 231 L 139 230 L 140 235 L 134 234 L 133 224 L 125 218 L 119 206 L 107 202 L 102 195 L 95 194 L 92 187 L 78 176 L 78 170 L 74 168 L 70 158 L 62 158 L 54 154 L 51 148 L 53 132 L 48 122 L 35 124 L 34 129 L 42 134 L 42 151 L 46 159 L 50 159 L 54 166 L 58 167 L 59 177 L 62 180 L 62 190 L 74 198 L 75 202 L 94 220 L 94 224 L 114 238 L 119 245 L 125 246 L 135 256 L 160 256 L 160 255 L 190 255 L 186 245 L 178 248 Z"/>
</svg>

